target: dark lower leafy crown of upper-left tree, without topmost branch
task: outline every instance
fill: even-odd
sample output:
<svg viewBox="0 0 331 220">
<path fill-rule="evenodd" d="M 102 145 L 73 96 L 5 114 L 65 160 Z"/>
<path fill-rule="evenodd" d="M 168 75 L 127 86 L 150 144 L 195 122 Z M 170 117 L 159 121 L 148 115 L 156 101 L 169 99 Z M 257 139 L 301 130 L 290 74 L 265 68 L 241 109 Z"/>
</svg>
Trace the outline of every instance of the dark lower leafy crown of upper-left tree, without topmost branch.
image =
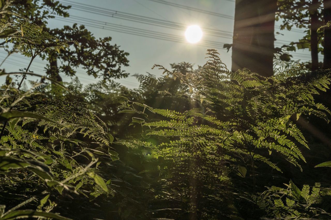
<svg viewBox="0 0 331 220">
<path fill-rule="evenodd" d="M 95 38 L 83 25 L 64 26 L 61 29 L 53 29 L 50 32 L 60 40 L 70 39 L 77 41 L 71 49 L 57 54 L 46 51 L 43 58 L 49 61 L 47 73 L 54 79 L 62 81 L 59 72 L 73 76 L 75 68 L 81 66 L 88 75 L 102 77 L 104 80 L 110 78 L 127 77 L 128 73 L 122 66 L 128 66 L 126 56 L 129 54 L 119 49 L 119 46 L 111 45 L 111 37 Z M 58 65 L 60 61 L 60 65 Z"/>
</svg>

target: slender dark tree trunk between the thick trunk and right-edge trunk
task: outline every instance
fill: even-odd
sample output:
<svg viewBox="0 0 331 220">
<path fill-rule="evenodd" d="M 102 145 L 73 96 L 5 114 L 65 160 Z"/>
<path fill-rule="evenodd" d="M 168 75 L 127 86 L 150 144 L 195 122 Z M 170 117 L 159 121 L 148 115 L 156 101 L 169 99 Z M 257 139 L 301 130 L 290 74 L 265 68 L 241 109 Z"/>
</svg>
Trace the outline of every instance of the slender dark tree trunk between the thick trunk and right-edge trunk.
<svg viewBox="0 0 331 220">
<path fill-rule="evenodd" d="M 310 54 L 311 54 L 311 70 L 318 69 L 318 0 L 312 0 L 310 5 Z"/>
</svg>

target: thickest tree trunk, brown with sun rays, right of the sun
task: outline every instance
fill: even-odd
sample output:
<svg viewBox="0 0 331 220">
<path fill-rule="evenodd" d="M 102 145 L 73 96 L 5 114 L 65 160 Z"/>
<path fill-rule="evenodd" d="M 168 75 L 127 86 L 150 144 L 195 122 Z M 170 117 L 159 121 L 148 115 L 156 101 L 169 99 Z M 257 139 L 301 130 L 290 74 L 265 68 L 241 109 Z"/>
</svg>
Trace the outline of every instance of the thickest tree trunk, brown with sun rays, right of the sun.
<svg viewBox="0 0 331 220">
<path fill-rule="evenodd" d="M 277 0 L 236 0 L 232 71 L 273 75 L 276 10 Z"/>
</svg>

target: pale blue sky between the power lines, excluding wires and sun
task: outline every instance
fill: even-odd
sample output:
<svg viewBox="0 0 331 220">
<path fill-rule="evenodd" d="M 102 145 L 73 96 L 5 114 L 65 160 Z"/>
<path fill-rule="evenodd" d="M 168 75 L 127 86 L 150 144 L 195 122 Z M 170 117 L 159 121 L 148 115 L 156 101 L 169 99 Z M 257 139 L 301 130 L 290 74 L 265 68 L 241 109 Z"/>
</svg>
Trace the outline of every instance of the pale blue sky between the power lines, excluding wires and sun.
<svg viewBox="0 0 331 220">
<path fill-rule="evenodd" d="M 99 11 L 98 8 L 101 7 L 103 10 L 115 10 L 124 13 L 130 13 L 145 17 L 151 17 L 155 19 L 166 20 L 170 22 L 179 22 L 185 25 L 198 24 L 202 28 L 215 29 L 221 32 L 224 32 L 224 35 L 229 34 L 233 31 L 233 18 L 234 16 L 234 2 L 231 0 L 166 0 L 168 2 L 185 5 L 193 8 L 198 8 L 200 10 L 211 11 L 225 16 L 213 16 L 210 14 L 204 14 L 196 11 L 185 10 L 178 7 L 173 7 L 165 4 L 160 4 L 150 0 L 72 0 L 75 3 L 78 3 L 81 6 L 86 6 L 83 4 L 90 5 L 88 7 L 93 7 L 95 10 Z M 61 0 L 61 3 L 70 4 L 69 1 Z M 182 30 L 169 29 L 166 27 L 158 27 L 149 24 L 142 24 L 132 21 L 125 21 L 117 19 L 114 17 L 107 16 L 103 12 L 98 13 L 89 13 L 76 10 L 78 7 L 73 7 L 69 10 L 71 19 L 65 20 L 50 20 L 49 26 L 52 27 L 62 27 L 63 25 L 72 25 L 72 21 L 78 21 L 78 24 L 89 24 L 87 29 L 89 29 L 96 37 L 106 37 L 111 36 L 112 43 L 117 44 L 120 48 L 130 55 L 128 56 L 129 65 L 125 67 L 125 70 L 128 73 L 146 73 L 150 72 L 155 75 L 161 75 L 162 72 L 159 70 L 151 70 L 151 67 L 154 64 L 164 65 L 169 67 L 169 63 L 178 63 L 178 62 L 189 62 L 195 64 L 195 67 L 198 65 L 203 65 L 206 60 L 205 51 L 208 48 L 215 48 L 219 51 L 221 60 L 231 68 L 231 50 L 226 53 L 226 50 L 222 48 L 220 43 L 231 43 L 232 39 L 222 36 L 209 36 L 207 33 L 204 33 L 202 38 L 202 43 L 208 44 L 210 46 L 201 46 L 195 44 L 189 44 L 185 42 L 184 32 L 185 28 Z M 86 22 L 84 19 L 79 19 L 77 17 L 82 17 L 84 19 L 90 20 Z M 229 17 L 229 18 L 224 18 Z M 73 19 L 73 20 L 72 20 Z M 92 20 L 106 22 L 106 24 L 117 24 L 125 25 L 134 28 L 147 29 L 151 31 L 158 31 L 162 33 L 168 33 L 169 37 L 172 35 L 178 35 L 182 37 L 184 43 L 165 41 L 160 39 L 152 39 L 143 36 L 135 36 L 127 33 L 119 33 L 112 30 L 100 29 L 96 25 L 93 25 L 95 22 Z M 278 23 L 279 25 L 279 23 Z M 279 30 L 275 30 L 279 31 Z M 303 34 L 299 30 L 294 31 L 282 31 L 283 35 L 276 36 L 277 39 L 283 41 L 295 41 L 298 40 Z M 162 36 L 160 36 L 162 38 Z M 217 46 L 214 43 L 206 42 L 214 41 L 219 42 Z M 276 41 L 275 45 L 282 45 L 284 42 Z M 5 54 L 0 53 L 0 59 L 3 58 Z M 294 55 L 294 58 L 302 59 L 302 61 L 309 60 L 309 51 L 298 51 Z M 28 63 L 28 59 L 22 58 L 18 55 L 14 55 L 12 58 L 5 63 L 7 70 L 14 71 L 18 70 L 19 67 L 25 67 Z M 37 60 L 31 66 L 31 69 L 35 72 L 43 73 L 43 62 Z M 97 79 L 89 77 L 84 70 L 80 69 L 77 76 L 80 78 L 81 82 L 84 84 L 96 82 Z M 64 81 L 70 80 L 70 77 L 63 77 Z M 137 82 L 134 77 L 129 76 L 128 78 L 118 80 L 118 82 L 123 83 L 129 88 L 137 87 Z"/>
</svg>

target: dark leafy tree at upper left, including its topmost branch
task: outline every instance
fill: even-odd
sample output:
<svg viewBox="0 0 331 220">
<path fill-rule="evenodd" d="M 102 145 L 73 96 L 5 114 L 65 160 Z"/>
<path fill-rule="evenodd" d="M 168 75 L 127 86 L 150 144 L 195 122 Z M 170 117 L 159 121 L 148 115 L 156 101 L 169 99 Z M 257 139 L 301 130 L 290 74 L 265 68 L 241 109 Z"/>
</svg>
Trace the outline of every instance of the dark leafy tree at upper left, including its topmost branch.
<svg viewBox="0 0 331 220">
<path fill-rule="evenodd" d="M 83 25 L 64 26 L 63 28 L 47 28 L 48 19 L 55 18 L 55 15 L 69 17 L 67 12 L 71 6 L 64 6 L 59 1 L 42 0 L 15 0 L 11 7 L 13 12 L 31 20 L 38 25 L 43 25 L 44 29 L 60 40 L 67 39 L 76 41 L 78 45 L 73 45 L 65 53 L 56 53 L 46 50 L 41 58 L 47 60 L 46 73 L 57 81 L 62 81 L 59 73 L 74 76 L 75 69 L 79 66 L 86 69 L 88 75 L 109 78 L 127 77 L 128 73 L 122 69 L 128 66 L 128 53 L 119 49 L 119 46 L 111 45 L 111 37 L 95 38 Z"/>
</svg>

